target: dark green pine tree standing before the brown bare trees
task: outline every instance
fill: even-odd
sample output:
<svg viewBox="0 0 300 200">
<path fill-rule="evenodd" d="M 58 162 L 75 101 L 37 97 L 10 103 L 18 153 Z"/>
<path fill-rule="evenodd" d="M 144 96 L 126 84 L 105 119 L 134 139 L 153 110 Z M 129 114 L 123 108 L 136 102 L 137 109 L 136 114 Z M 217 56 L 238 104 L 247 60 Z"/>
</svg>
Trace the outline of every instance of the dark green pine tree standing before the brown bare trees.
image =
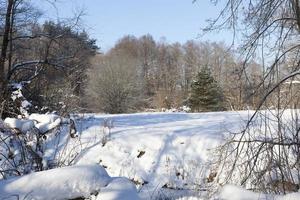
<svg viewBox="0 0 300 200">
<path fill-rule="evenodd" d="M 191 109 L 197 112 L 224 110 L 223 101 L 222 91 L 212 77 L 210 69 L 203 67 L 191 84 Z"/>
</svg>

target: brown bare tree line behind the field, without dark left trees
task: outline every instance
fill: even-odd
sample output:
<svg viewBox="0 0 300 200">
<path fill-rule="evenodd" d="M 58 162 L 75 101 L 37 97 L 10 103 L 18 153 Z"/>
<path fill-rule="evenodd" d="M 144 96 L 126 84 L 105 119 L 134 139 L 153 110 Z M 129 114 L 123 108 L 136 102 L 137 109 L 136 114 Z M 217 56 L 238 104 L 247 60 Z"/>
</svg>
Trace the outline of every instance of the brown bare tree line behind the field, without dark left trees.
<svg viewBox="0 0 300 200">
<path fill-rule="evenodd" d="M 109 113 L 182 106 L 193 111 L 254 108 L 258 99 L 251 92 L 262 75 L 253 61 L 246 79 L 243 61 L 224 43 L 170 44 L 149 34 L 124 36 L 107 53 L 96 55 L 91 66 L 85 90 L 88 106 Z M 205 77 L 203 73 L 212 85 L 197 80 Z M 196 105 L 197 98 L 209 95 L 195 90 L 197 81 L 208 93 L 216 93 L 204 103 L 208 105 Z"/>
</svg>

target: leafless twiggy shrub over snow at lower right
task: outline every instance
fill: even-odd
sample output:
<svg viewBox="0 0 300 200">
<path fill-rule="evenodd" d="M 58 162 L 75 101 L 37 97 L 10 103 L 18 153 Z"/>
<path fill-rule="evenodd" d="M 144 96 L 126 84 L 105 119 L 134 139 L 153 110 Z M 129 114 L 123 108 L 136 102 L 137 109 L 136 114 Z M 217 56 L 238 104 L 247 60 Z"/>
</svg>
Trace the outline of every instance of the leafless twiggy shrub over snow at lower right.
<svg viewBox="0 0 300 200">
<path fill-rule="evenodd" d="M 299 111 L 261 111 L 220 147 L 215 183 L 235 183 L 267 193 L 299 188 Z"/>
</svg>

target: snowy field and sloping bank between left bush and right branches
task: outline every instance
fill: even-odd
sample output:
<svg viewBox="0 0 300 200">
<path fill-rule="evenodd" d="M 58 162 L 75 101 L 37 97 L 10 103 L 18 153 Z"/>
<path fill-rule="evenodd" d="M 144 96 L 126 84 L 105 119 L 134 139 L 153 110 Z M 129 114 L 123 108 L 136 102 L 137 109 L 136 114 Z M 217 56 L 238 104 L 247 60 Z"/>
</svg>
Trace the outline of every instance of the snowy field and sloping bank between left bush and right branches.
<svg viewBox="0 0 300 200">
<path fill-rule="evenodd" d="M 86 148 L 76 163 L 98 163 L 112 176 L 128 177 L 144 199 L 174 196 L 174 189 L 202 191 L 214 147 L 249 116 L 248 111 L 85 115 L 77 126 Z M 102 125 L 107 119 L 110 130 Z"/>
</svg>

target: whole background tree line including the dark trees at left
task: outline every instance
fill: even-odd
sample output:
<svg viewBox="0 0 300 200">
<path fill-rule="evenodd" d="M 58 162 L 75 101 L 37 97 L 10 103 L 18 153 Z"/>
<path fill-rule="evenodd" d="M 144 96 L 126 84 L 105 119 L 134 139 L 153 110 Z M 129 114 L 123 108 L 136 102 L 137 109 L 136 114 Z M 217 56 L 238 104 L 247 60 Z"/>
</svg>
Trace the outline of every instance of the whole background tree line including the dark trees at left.
<svg viewBox="0 0 300 200">
<path fill-rule="evenodd" d="M 81 13 L 41 23 L 43 15 L 30 1 L 0 0 L 0 9 L 2 117 L 182 106 L 197 112 L 254 109 L 265 92 L 257 57 L 239 57 L 221 42 L 129 35 L 101 53 L 81 26 Z"/>
</svg>

